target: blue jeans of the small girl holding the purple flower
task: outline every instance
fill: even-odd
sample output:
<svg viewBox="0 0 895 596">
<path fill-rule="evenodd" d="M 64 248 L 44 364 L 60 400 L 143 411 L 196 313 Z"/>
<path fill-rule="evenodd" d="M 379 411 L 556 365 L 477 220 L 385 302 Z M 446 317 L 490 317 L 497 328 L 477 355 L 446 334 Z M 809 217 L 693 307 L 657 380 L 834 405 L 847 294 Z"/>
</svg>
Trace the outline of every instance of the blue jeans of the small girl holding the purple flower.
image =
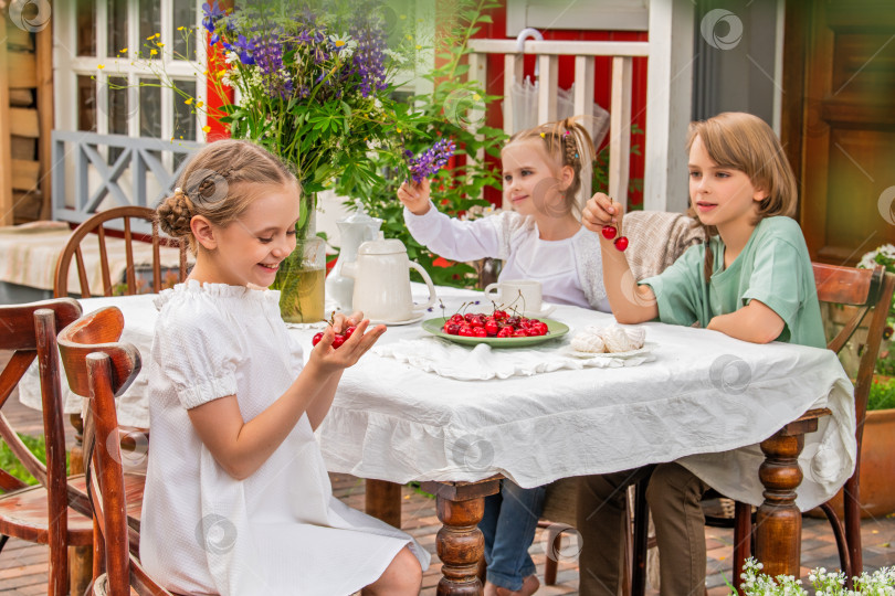
<svg viewBox="0 0 895 596">
<path fill-rule="evenodd" d="M 535 540 L 544 510 L 545 487 L 519 488 L 501 480 L 501 492 L 485 498 L 485 514 L 478 529 L 485 535 L 487 579 L 510 590 L 522 589 L 523 579 L 535 573 L 528 547 Z"/>
</svg>

